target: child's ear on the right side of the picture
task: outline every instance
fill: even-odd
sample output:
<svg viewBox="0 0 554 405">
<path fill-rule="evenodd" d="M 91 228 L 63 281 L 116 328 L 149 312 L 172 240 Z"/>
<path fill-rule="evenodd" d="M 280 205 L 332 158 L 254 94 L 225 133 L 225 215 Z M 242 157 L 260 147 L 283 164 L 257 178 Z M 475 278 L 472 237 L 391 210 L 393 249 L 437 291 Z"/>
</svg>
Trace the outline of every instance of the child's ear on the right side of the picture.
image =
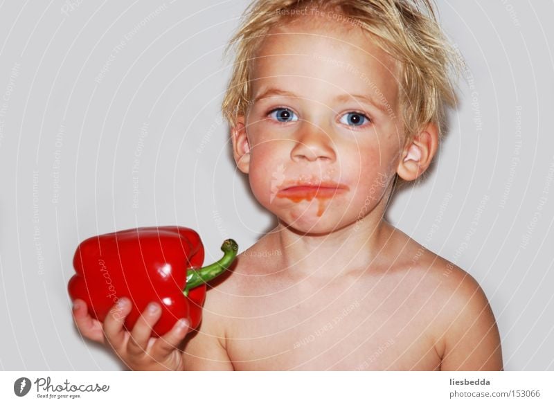
<svg viewBox="0 0 554 405">
<path fill-rule="evenodd" d="M 402 150 L 396 172 L 406 181 L 417 179 L 429 168 L 437 149 L 438 128 L 434 123 L 428 123 Z"/>
</svg>

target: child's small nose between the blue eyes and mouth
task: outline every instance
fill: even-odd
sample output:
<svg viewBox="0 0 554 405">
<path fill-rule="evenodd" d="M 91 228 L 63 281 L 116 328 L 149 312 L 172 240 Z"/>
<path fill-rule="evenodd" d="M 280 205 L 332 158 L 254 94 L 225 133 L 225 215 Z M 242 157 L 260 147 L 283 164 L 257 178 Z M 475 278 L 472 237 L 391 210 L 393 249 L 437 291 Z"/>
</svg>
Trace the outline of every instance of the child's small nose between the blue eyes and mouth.
<svg viewBox="0 0 554 405">
<path fill-rule="evenodd" d="M 307 120 L 298 127 L 295 141 L 291 151 L 293 161 L 334 161 L 336 157 L 330 132 Z"/>
</svg>

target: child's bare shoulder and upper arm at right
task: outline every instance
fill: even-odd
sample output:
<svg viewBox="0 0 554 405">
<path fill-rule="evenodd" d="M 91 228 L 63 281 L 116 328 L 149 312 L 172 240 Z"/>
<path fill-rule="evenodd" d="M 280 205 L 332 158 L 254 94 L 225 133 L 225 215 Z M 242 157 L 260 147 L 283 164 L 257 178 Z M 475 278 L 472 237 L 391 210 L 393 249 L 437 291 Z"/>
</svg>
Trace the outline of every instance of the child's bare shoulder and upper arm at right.
<svg viewBox="0 0 554 405">
<path fill-rule="evenodd" d="M 441 370 L 501 370 L 499 331 L 479 282 L 407 235 L 401 239 L 403 267 L 411 272 L 411 282 L 420 283 L 434 314 L 430 327 Z"/>
</svg>

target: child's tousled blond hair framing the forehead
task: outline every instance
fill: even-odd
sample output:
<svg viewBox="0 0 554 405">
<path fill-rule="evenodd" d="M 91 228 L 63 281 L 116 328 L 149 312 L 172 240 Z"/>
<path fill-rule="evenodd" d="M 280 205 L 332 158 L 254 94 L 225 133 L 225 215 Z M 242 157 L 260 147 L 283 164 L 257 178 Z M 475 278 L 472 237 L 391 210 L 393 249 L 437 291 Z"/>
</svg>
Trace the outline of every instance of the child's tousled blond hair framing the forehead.
<svg viewBox="0 0 554 405">
<path fill-rule="evenodd" d="M 269 30 L 299 18 L 300 10 L 334 12 L 373 34 L 377 45 L 400 62 L 399 109 L 406 143 L 427 123 L 443 134 L 445 107 L 456 106 L 451 81 L 459 73 L 458 53 L 438 25 L 431 0 L 255 0 L 226 46 L 236 47 L 235 64 L 222 102 L 231 126 L 246 115 L 251 98 L 251 67 Z M 352 24 L 355 23 L 355 24 Z M 347 24 L 345 24 L 346 26 Z M 454 68 L 451 70 L 451 68 Z"/>
</svg>

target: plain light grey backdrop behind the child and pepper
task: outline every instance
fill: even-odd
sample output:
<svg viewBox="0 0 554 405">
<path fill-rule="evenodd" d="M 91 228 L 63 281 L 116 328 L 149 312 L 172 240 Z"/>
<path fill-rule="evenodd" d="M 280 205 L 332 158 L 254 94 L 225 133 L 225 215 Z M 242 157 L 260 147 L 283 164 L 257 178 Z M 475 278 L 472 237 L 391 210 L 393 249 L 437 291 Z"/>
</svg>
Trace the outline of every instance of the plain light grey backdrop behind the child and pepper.
<svg viewBox="0 0 554 405">
<path fill-rule="evenodd" d="M 195 228 L 206 263 L 274 224 L 235 168 L 223 47 L 247 1 L 0 6 L 1 370 L 119 370 L 73 326 L 78 243 Z M 487 294 L 506 370 L 554 370 L 554 4 L 439 1 L 467 62 L 436 164 L 386 218 Z"/>
</svg>

